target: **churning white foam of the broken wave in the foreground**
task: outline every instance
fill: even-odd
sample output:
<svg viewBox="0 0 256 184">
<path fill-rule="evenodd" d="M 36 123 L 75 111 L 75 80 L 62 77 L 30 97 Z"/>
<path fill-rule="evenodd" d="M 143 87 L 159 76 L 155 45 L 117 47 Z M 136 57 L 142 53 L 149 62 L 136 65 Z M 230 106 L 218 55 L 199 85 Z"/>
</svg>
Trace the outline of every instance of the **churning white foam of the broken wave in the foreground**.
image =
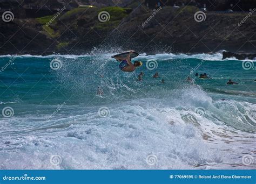
<svg viewBox="0 0 256 184">
<path fill-rule="evenodd" d="M 255 125 L 250 125 L 253 122 L 246 121 L 247 118 L 237 119 L 240 115 L 226 116 L 234 107 L 253 119 L 255 104 L 213 101 L 203 90 L 194 87 L 174 90 L 171 96 L 108 104 L 107 117 L 99 116 L 100 107 L 88 112 L 77 105 L 71 112 L 67 105 L 49 121 L 44 121 L 43 115 L 30 117 L 29 114 L 4 119 L 8 129 L 1 129 L 4 137 L 0 141 L 3 148 L 0 163 L 10 161 L 2 168 L 253 168 L 253 165 L 242 165 L 241 157 L 251 154 L 256 158 L 251 149 L 255 147 L 255 135 L 238 128 L 252 129 Z M 204 116 L 195 111 L 198 106 L 205 109 Z M 231 113 L 234 116 L 237 112 Z M 33 126 L 28 119 L 33 121 Z M 228 124 L 236 119 L 237 129 Z M 62 158 L 60 165 L 50 162 L 51 155 L 56 154 Z M 157 157 L 156 165 L 147 164 L 148 155 Z"/>
</svg>

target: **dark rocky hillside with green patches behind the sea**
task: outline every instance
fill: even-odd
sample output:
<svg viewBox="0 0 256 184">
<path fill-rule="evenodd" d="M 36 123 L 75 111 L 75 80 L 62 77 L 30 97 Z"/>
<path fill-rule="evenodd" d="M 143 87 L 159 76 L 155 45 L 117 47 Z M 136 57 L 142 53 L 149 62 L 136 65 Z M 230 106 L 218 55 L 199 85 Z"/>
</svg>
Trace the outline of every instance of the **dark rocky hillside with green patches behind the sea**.
<svg viewBox="0 0 256 184">
<path fill-rule="evenodd" d="M 16 2 L 16 1 L 15 1 Z M 41 5 L 36 1 L 25 8 Z M 72 6 L 83 1 L 73 1 Z M 90 4 L 91 1 L 84 1 Z M 118 6 L 104 7 L 97 1 L 95 8 L 72 8 L 67 5 L 52 23 L 56 10 L 64 1 L 49 1 L 51 16 L 27 18 L 14 12 L 12 22 L 0 22 L 0 54 L 83 54 L 97 51 L 116 52 L 135 49 L 142 53 L 163 52 L 255 52 L 256 14 L 238 26 L 248 13 L 205 12 L 202 22 L 194 19 L 195 6 L 173 8 L 164 6 L 153 11 L 140 1 L 119 1 Z M 116 1 L 109 3 L 114 5 Z M 20 6 L 16 7 L 23 10 Z M 11 9 L 11 11 L 14 9 Z M 107 11 L 109 20 L 100 22 L 99 12 Z M 22 12 L 22 11 L 19 11 Z"/>
</svg>

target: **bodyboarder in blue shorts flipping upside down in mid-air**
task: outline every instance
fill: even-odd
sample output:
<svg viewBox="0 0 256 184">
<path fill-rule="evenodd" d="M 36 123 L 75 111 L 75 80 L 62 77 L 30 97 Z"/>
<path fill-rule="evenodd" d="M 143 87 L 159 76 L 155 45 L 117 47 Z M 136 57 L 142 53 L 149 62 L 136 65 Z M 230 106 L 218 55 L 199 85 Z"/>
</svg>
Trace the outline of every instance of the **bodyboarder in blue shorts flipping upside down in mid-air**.
<svg viewBox="0 0 256 184">
<path fill-rule="evenodd" d="M 117 61 L 121 61 L 119 68 L 123 72 L 133 72 L 137 67 L 142 66 L 142 61 L 134 61 L 134 63 L 131 62 L 131 54 L 132 51 L 130 51 L 130 53 L 126 56 L 125 60 L 118 57 L 115 58 Z"/>
</svg>

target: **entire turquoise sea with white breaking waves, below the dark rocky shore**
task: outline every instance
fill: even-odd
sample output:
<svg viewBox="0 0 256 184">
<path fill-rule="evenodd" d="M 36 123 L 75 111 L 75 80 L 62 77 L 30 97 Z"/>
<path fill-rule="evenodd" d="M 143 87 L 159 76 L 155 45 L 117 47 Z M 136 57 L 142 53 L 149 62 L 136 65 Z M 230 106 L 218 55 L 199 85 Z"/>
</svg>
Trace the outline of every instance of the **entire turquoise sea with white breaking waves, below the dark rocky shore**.
<svg viewBox="0 0 256 184">
<path fill-rule="evenodd" d="M 0 57 L 1 169 L 256 168 L 255 61 L 110 55 Z"/>
</svg>

